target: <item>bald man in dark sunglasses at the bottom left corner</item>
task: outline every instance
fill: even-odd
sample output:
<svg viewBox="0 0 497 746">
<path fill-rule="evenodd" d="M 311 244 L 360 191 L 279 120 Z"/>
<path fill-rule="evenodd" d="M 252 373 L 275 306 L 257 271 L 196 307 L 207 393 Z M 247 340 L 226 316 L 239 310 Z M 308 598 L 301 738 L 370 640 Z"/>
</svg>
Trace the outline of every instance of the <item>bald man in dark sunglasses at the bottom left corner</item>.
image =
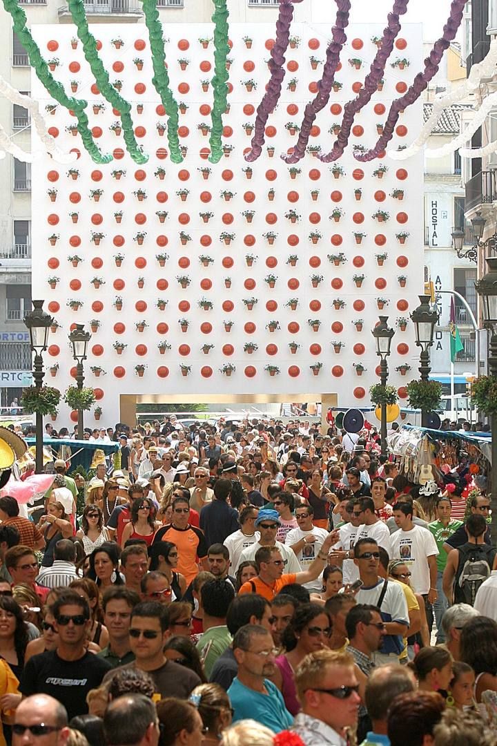
<svg viewBox="0 0 497 746">
<path fill-rule="evenodd" d="M 16 709 L 12 746 L 66 746 L 66 708 L 48 695 L 27 697 Z"/>
</svg>

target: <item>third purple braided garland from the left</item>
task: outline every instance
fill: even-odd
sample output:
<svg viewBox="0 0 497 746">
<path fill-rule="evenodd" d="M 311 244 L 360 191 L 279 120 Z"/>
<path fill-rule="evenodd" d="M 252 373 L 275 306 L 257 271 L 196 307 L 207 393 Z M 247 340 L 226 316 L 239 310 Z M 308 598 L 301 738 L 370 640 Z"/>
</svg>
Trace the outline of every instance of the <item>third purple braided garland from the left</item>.
<svg viewBox="0 0 497 746">
<path fill-rule="evenodd" d="M 342 119 L 341 129 L 332 151 L 317 156 L 323 163 L 338 160 L 344 154 L 344 150 L 349 144 L 350 131 L 354 124 L 355 115 L 370 102 L 373 93 L 378 89 L 379 82 L 382 80 L 388 57 L 390 57 L 393 51 L 393 43 L 401 28 L 399 16 L 407 12 L 408 4 L 409 0 L 395 0 L 393 3 L 392 12 L 387 16 L 388 25 L 383 31 L 382 44 L 371 63 L 370 72 L 364 80 L 364 87 L 361 88 L 359 94 L 352 101 L 345 104 L 344 119 Z"/>
</svg>

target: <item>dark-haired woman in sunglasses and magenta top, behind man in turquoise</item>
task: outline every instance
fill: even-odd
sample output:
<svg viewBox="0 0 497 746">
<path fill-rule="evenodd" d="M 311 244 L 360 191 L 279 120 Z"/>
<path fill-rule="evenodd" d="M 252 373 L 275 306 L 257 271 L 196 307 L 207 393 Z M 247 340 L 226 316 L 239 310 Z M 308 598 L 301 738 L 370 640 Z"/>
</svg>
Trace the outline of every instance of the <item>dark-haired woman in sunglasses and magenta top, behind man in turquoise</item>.
<svg viewBox="0 0 497 746">
<path fill-rule="evenodd" d="M 282 693 L 285 706 L 292 715 L 297 715 L 302 708 L 297 699 L 294 671 L 308 653 L 328 647 L 331 633 L 332 621 L 326 609 L 321 604 L 303 604 L 282 634 L 285 653 L 274 660 L 276 671 L 270 678 Z"/>
</svg>

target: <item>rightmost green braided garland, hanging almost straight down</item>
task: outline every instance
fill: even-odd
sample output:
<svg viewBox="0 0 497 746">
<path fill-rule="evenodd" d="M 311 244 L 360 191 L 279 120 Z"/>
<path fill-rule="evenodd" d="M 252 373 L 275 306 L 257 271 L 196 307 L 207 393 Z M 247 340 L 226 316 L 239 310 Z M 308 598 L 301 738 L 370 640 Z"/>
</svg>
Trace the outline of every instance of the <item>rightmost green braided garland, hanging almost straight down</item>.
<svg viewBox="0 0 497 746">
<path fill-rule="evenodd" d="M 212 130 L 209 137 L 211 163 L 219 163 L 223 155 L 221 135 L 223 134 L 223 113 L 228 103 L 228 71 L 226 60 L 229 54 L 228 45 L 228 8 L 226 0 L 213 0 L 215 10 L 212 15 L 214 26 L 214 78 L 212 78 L 212 89 L 214 90 L 214 105 L 212 107 L 211 119 Z"/>
</svg>

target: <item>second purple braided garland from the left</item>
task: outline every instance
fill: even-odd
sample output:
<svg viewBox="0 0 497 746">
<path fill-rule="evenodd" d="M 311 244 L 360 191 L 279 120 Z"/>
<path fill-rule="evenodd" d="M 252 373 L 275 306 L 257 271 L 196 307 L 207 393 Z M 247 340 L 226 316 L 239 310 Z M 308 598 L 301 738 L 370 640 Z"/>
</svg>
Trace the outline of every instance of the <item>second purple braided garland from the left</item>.
<svg viewBox="0 0 497 746">
<path fill-rule="evenodd" d="M 326 49 L 326 63 L 324 63 L 323 67 L 323 77 L 318 84 L 319 90 L 314 100 L 310 101 L 306 106 L 297 145 L 295 145 L 291 154 L 282 155 L 282 159 L 285 163 L 298 163 L 298 161 L 304 157 L 314 119 L 316 119 L 317 114 L 329 101 L 329 94 L 331 93 L 333 82 L 335 80 L 335 72 L 337 71 L 338 63 L 340 62 L 340 54 L 344 43 L 346 42 L 344 28 L 349 25 L 351 5 L 351 0 L 336 1 L 338 6 L 337 17 L 335 19 L 335 25 L 332 28 L 332 41 Z"/>
</svg>

